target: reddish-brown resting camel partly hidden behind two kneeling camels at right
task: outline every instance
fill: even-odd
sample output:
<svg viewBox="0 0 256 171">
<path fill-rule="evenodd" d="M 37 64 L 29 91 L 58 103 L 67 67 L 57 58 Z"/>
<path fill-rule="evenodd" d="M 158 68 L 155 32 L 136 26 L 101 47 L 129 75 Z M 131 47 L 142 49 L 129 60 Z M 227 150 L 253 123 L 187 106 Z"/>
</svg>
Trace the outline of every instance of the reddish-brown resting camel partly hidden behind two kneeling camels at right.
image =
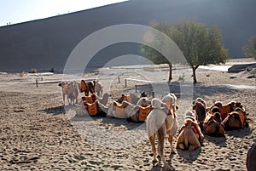
<svg viewBox="0 0 256 171">
<path fill-rule="evenodd" d="M 227 103 L 226 105 L 223 105 L 222 102 L 218 101 L 215 102 L 208 111 L 211 111 L 213 107 L 218 107 L 219 113 L 221 115 L 221 119 L 224 120 L 228 113 L 230 113 L 231 111 L 235 111 L 236 107 L 240 107 L 243 108 L 243 106 L 241 105 L 240 102 L 236 102 L 236 101 L 230 101 L 229 103 Z"/>
</svg>

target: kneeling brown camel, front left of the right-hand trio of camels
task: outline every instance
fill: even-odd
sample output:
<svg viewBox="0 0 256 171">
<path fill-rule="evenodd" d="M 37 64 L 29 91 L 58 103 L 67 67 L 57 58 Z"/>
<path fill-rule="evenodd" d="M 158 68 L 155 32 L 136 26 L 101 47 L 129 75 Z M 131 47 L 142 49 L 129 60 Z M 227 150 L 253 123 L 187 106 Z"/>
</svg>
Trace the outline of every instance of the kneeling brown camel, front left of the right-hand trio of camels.
<svg viewBox="0 0 256 171">
<path fill-rule="evenodd" d="M 216 109 L 216 108 L 215 108 Z M 214 110 L 213 110 L 214 111 Z M 221 114 L 219 112 L 208 113 L 203 123 L 205 134 L 212 136 L 224 136 L 224 124 L 222 123 Z"/>
</svg>

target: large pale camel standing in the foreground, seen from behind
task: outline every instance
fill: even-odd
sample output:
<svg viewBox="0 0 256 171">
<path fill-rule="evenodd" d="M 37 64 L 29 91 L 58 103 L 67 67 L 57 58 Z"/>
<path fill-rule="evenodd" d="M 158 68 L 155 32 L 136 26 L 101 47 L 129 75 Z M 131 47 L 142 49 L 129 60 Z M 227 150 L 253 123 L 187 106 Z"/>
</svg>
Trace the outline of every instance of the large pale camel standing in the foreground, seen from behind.
<svg viewBox="0 0 256 171">
<path fill-rule="evenodd" d="M 172 98 L 173 97 L 170 94 L 166 95 L 162 100 L 154 98 L 152 100 L 153 110 L 150 111 L 150 113 L 148 114 L 146 123 L 148 139 L 150 141 L 152 151 L 154 154 L 153 162 L 158 161 L 156 158 L 157 153 L 154 144 L 156 135 L 158 139 L 158 153 L 168 169 L 171 168 L 166 162 L 166 158 L 164 155 L 166 133 L 168 134 L 168 141 L 171 145 L 171 153 L 174 152 L 172 147 L 172 136 L 177 133 L 177 118 L 175 117 L 176 107 L 173 105 Z M 169 100 L 168 103 L 163 103 L 163 101 L 167 102 L 167 100 Z M 169 107 L 172 108 L 171 111 L 169 110 Z"/>
</svg>

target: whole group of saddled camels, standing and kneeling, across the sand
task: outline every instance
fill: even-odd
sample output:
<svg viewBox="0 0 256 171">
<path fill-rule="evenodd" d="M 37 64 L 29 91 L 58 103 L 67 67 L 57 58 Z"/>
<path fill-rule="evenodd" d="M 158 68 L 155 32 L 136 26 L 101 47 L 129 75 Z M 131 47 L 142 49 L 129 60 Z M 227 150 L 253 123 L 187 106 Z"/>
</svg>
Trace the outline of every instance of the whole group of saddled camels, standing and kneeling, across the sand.
<svg viewBox="0 0 256 171">
<path fill-rule="evenodd" d="M 167 168 L 170 168 L 164 155 L 166 134 L 174 152 L 172 139 L 177 134 L 175 147 L 182 150 L 200 148 L 205 134 L 210 136 L 224 136 L 226 131 L 245 128 L 247 126 L 247 112 L 240 102 L 230 101 L 223 105 L 217 101 L 207 107 L 205 100 L 197 98 L 185 114 L 183 124 L 177 125 L 177 97 L 167 93 L 162 99 L 148 97 L 144 92 L 137 94 L 122 94 L 119 99 L 111 100 L 110 94 L 102 94 L 103 86 L 98 81 L 62 82 L 63 101 L 67 96 L 69 104 L 78 104 L 75 117 L 113 117 L 126 119 L 127 122 L 146 123 L 148 140 L 154 154 L 153 162 L 157 162 L 157 153 Z M 78 100 L 79 93 L 84 96 Z M 65 104 L 65 103 L 64 103 Z M 158 139 L 158 151 L 155 139 Z"/>
</svg>

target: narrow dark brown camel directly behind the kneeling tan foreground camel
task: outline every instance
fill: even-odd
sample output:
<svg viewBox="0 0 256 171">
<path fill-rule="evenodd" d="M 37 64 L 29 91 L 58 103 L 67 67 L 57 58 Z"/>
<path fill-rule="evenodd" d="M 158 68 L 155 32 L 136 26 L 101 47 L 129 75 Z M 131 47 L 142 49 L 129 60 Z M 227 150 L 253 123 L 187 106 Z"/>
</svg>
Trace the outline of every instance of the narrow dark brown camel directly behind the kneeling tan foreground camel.
<svg viewBox="0 0 256 171">
<path fill-rule="evenodd" d="M 202 129 L 204 120 L 207 117 L 206 104 L 201 102 L 201 100 L 196 99 L 193 102 L 192 109 L 195 110 L 195 118 L 198 121 L 200 128 Z"/>
</svg>

